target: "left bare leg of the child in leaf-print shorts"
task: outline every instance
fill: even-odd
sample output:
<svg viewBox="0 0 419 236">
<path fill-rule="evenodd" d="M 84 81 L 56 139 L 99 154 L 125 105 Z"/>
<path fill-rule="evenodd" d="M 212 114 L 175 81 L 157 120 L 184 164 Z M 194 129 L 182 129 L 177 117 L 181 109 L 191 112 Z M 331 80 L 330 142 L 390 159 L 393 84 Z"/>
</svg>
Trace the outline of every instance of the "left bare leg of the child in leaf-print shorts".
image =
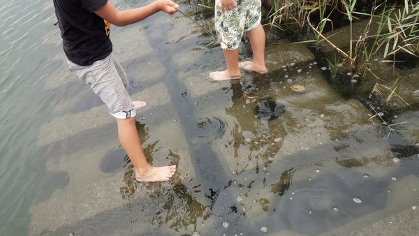
<svg viewBox="0 0 419 236">
<path fill-rule="evenodd" d="M 226 71 L 214 71 L 210 73 L 212 80 L 237 80 L 242 78 L 242 73 L 239 67 L 239 49 L 223 50 L 224 58 L 226 59 Z"/>
</svg>

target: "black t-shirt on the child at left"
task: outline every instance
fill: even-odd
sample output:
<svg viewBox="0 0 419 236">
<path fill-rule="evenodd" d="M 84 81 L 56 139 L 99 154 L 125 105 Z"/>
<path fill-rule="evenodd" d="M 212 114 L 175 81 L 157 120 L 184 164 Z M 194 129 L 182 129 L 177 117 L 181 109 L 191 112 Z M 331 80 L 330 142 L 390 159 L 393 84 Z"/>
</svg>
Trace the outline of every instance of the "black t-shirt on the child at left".
<svg viewBox="0 0 419 236">
<path fill-rule="evenodd" d="M 94 12 L 108 0 L 54 0 L 64 52 L 80 66 L 90 66 L 112 52 L 110 23 Z"/>
</svg>

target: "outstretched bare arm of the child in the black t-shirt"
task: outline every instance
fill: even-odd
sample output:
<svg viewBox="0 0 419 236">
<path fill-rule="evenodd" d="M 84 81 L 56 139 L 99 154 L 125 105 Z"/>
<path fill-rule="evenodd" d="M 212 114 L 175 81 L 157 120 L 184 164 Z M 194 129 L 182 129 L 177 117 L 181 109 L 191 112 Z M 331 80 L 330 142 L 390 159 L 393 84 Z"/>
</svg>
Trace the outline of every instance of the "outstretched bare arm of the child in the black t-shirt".
<svg viewBox="0 0 419 236">
<path fill-rule="evenodd" d="M 128 24 L 144 20 L 161 10 L 172 15 L 177 9 L 179 9 L 179 5 L 170 0 L 157 0 L 141 8 L 119 11 L 110 3 L 110 1 L 108 1 L 105 6 L 96 10 L 94 13 L 117 27 L 124 27 Z"/>
</svg>

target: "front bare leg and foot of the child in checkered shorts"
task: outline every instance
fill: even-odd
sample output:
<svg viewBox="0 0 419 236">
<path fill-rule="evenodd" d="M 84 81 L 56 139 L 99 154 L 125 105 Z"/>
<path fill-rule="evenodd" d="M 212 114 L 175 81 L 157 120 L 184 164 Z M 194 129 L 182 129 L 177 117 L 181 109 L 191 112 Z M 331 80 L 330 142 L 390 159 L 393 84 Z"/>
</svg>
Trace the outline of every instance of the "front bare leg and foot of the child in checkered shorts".
<svg viewBox="0 0 419 236">
<path fill-rule="evenodd" d="M 116 119 L 119 141 L 128 154 L 135 169 L 135 179 L 138 182 L 163 182 L 169 180 L 176 172 L 176 165 L 154 167 L 147 163 L 135 127 L 135 117 Z"/>
</svg>

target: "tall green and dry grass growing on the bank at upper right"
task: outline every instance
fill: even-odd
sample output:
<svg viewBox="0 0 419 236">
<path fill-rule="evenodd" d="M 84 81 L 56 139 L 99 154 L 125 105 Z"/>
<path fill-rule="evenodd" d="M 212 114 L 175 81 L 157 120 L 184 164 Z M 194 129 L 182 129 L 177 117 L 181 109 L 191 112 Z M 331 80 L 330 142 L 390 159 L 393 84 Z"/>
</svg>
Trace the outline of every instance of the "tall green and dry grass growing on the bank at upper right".
<svg viewBox="0 0 419 236">
<path fill-rule="evenodd" d="M 197 6 L 214 6 L 214 0 L 195 1 Z M 316 50 L 326 42 L 341 54 L 342 58 L 328 61 L 330 71 L 335 72 L 333 80 L 363 81 L 367 74 L 376 76 L 370 66 L 377 58 L 382 63 L 397 64 L 400 53 L 419 57 L 419 5 L 413 0 L 262 0 L 262 3 L 266 10 L 265 27 L 293 35 L 294 41 L 307 43 Z M 361 20 L 367 22 L 365 29 L 355 34 L 353 24 Z M 349 49 L 339 48 L 325 36 L 326 32 L 343 26 L 349 27 Z M 345 78 L 336 76 L 342 68 L 348 70 Z M 385 101 L 395 96 L 396 87 L 396 84 L 388 87 Z M 385 94 L 385 86 L 376 84 L 374 89 L 378 88 Z"/>
</svg>

